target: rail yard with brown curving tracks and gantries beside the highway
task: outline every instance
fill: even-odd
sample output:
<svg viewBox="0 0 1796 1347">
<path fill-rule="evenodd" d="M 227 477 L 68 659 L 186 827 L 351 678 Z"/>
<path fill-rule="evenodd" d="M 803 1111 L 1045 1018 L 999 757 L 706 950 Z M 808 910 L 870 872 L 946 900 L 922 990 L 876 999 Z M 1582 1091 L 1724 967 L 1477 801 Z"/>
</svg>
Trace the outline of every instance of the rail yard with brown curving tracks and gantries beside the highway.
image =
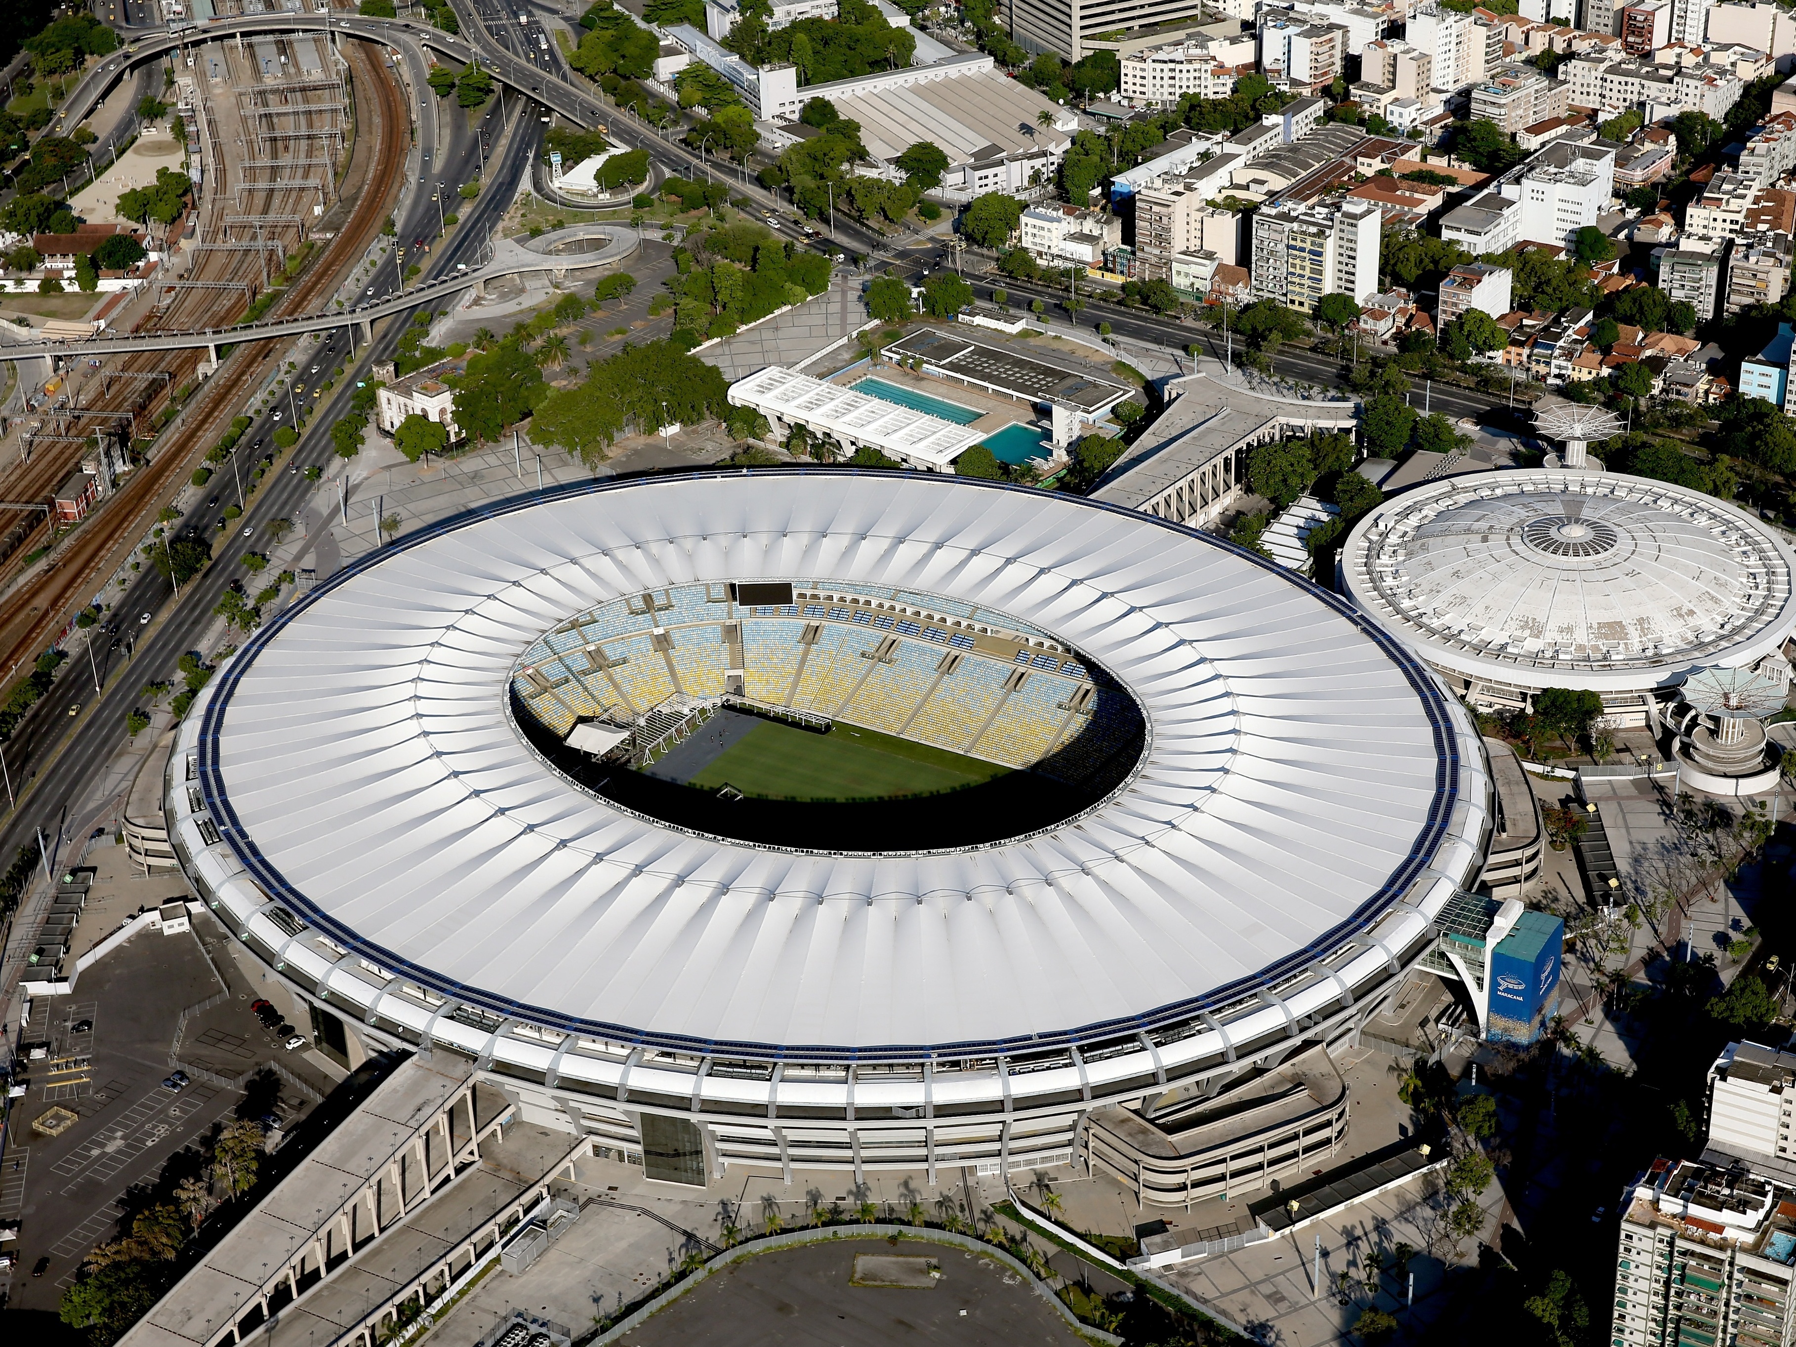
<svg viewBox="0 0 1796 1347">
<path fill-rule="evenodd" d="M 117 325 L 217 327 L 251 305 L 269 316 L 316 313 L 379 233 L 402 178 L 411 124 L 379 48 L 313 34 L 226 40 L 185 48 L 174 70 L 201 151 L 192 228 L 169 226 L 189 237 L 169 241 L 180 251 Z M 320 224 L 334 228 L 314 237 Z M 286 266 L 298 275 L 282 275 Z M 282 343 L 251 343 L 210 372 L 205 350 L 138 352 L 83 361 L 56 381 L 31 413 L 20 454 L 0 465 L 0 501 L 11 503 L 0 505 L 0 670 L 29 666 L 57 639 L 280 357 Z M 176 402 L 185 402 L 181 418 L 151 444 Z M 14 506 L 48 499 L 106 453 L 135 467 L 40 560 L 54 512 Z"/>
</svg>

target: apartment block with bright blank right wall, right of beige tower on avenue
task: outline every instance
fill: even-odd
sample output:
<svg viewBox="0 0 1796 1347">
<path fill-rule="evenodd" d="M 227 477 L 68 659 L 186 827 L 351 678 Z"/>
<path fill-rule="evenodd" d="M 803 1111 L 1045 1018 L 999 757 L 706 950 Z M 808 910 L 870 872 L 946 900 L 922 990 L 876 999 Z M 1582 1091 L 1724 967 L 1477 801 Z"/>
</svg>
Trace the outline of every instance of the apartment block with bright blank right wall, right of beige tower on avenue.
<svg viewBox="0 0 1796 1347">
<path fill-rule="evenodd" d="M 1254 298 L 1313 313 L 1324 295 L 1378 291 L 1381 212 L 1370 201 L 1272 205 L 1254 216 Z"/>
</svg>

